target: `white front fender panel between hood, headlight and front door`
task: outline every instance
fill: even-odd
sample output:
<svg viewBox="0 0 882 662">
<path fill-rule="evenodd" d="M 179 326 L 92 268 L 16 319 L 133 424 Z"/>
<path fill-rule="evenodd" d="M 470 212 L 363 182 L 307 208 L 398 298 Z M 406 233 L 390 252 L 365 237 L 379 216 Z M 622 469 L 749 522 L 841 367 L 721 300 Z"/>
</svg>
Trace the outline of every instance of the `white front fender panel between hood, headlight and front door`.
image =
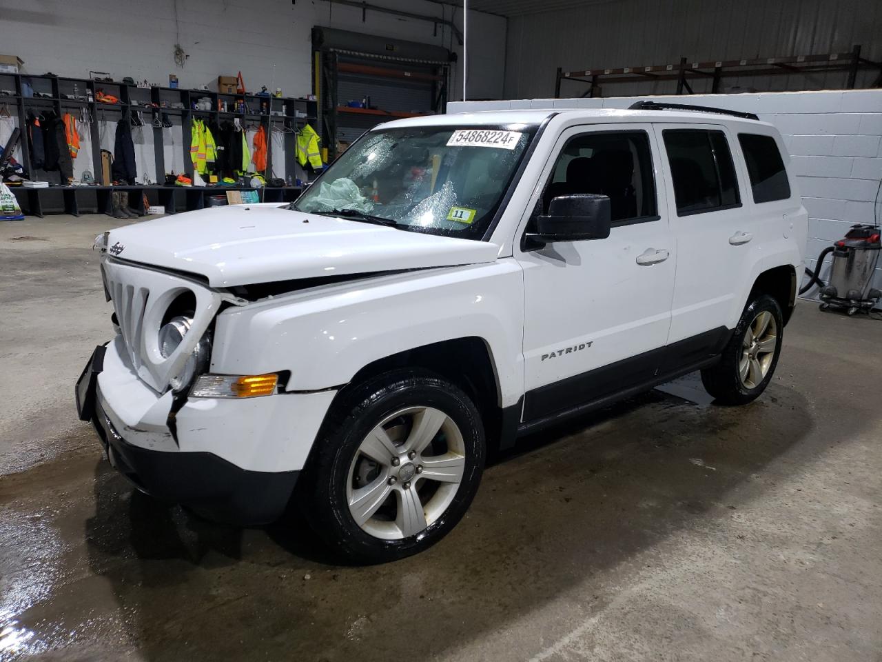
<svg viewBox="0 0 882 662">
<path fill-rule="evenodd" d="M 288 370 L 289 391 L 348 383 L 363 366 L 476 336 L 490 350 L 501 406 L 523 388 L 523 277 L 513 259 L 328 285 L 221 312 L 212 372 Z"/>
</svg>

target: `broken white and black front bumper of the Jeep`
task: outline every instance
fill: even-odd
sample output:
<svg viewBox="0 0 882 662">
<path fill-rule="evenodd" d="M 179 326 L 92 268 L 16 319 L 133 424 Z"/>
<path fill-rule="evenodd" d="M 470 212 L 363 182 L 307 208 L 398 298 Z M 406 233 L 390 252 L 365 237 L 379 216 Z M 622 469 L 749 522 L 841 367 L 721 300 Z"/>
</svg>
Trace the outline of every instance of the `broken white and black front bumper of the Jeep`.
<svg viewBox="0 0 882 662">
<path fill-rule="evenodd" d="M 95 349 L 76 394 L 80 418 L 138 489 L 216 521 L 259 524 L 286 508 L 334 392 L 191 399 L 172 413 L 173 394 L 138 379 L 117 335 Z"/>
</svg>

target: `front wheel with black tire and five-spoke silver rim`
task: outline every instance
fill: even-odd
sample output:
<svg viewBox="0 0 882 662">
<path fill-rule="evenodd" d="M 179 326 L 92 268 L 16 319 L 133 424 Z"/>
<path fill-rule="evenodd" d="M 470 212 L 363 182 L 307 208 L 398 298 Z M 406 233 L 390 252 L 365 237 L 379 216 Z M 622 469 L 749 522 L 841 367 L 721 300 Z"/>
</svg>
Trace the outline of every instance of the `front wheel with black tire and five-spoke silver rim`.
<svg viewBox="0 0 882 662">
<path fill-rule="evenodd" d="M 357 563 L 422 552 L 471 504 L 486 454 L 480 414 L 427 371 L 386 372 L 340 394 L 304 472 L 315 532 Z"/>
</svg>

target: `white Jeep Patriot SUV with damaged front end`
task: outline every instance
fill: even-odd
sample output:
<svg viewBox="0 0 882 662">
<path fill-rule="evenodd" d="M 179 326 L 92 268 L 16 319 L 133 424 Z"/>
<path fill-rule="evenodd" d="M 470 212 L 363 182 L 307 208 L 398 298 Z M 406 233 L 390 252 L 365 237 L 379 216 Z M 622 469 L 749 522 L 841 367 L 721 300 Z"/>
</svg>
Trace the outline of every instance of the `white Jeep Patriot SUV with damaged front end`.
<svg viewBox="0 0 882 662">
<path fill-rule="evenodd" d="M 376 562 L 444 537 L 519 434 L 695 370 L 750 402 L 803 270 L 781 137 L 635 106 L 382 124 L 292 205 L 111 230 L 80 417 L 146 493 L 236 523 L 294 500 Z"/>
</svg>

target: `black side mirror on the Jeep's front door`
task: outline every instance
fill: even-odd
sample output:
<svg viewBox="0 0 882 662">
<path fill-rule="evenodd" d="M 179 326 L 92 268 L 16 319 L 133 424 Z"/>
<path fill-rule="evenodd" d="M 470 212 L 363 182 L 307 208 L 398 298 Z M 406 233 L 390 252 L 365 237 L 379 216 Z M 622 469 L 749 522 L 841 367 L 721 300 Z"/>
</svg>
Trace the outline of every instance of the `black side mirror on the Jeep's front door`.
<svg viewBox="0 0 882 662">
<path fill-rule="evenodd" d="M 530 238 L 543 243 L 605 239 L 611 218 L 605 195 L 561 195 L 551 199 L 548 214 L 536 218 L 536 233 Z"/>
</svg>

